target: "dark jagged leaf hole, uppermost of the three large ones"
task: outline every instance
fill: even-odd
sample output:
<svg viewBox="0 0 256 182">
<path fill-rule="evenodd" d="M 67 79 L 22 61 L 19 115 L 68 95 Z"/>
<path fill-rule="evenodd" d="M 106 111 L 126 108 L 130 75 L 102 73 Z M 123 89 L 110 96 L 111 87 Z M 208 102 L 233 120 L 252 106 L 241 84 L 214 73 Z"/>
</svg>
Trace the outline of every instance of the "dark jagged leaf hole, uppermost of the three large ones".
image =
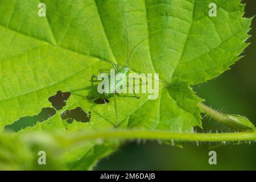
<svg viewBox="0 0 256 182">
<path fill-rule="evenodd" d="M 71 96 L 70 92 L 57 91 L 55 96 L 48 98 L 48 101 L 52 103 L 52 106 L 56 110 L 60 110 L 66 105 L 66 101 L 68 100 L 69 96 Z"/>
</svg>

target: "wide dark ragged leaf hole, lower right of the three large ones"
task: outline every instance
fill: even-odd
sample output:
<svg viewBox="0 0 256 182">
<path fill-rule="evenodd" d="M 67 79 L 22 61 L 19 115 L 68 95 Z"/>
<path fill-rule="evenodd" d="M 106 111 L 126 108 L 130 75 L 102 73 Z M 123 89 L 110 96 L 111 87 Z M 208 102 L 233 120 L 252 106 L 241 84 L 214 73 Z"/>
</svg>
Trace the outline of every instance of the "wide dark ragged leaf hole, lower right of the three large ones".
<svg viewBox="0 0 256 182">
<path fill-rule="evenodd" d="M 76 109 L 64 111 L 64 113 L 61 113 L 60 116 L 63 120 L 67 119 L 68 123 L 72 123 L 73 119 L 85 123 L 90 121 L 90 114 L 90 111 L 87 114 L 81 109 L 81 107 L 76 107 Z"/>
</svg>

